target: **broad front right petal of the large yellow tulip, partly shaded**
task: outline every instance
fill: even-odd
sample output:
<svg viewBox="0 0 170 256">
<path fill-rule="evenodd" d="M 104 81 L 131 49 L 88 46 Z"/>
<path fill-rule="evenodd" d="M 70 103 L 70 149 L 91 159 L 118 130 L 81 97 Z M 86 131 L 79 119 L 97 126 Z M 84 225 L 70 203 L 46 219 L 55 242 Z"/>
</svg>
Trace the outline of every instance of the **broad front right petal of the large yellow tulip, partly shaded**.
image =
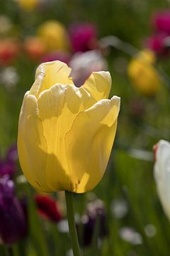
<svg viewBox="0 0 170 256">
<path fill-rule="evenodd" d="M 101 180 L 115 137 L 120 98 L 101 100 L 80 112 L 65 137 L 72 191 L 84 193 Z"/>
</svg>

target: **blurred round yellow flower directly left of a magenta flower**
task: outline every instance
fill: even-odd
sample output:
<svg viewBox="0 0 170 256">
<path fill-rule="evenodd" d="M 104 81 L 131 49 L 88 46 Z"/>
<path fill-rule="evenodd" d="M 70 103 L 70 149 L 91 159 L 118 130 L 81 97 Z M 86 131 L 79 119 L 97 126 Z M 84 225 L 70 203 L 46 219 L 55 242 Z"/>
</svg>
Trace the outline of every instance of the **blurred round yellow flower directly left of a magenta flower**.
<svg viewBox="0 0 170 256">
<path fill-rule="evenodd" d="M 38 28 L 38 36 L 45 44 L 47 51 L 67 50 L 69 48 L 69 38 L 67 31 L 59 21 L 45 21 Z"/>
</svg>

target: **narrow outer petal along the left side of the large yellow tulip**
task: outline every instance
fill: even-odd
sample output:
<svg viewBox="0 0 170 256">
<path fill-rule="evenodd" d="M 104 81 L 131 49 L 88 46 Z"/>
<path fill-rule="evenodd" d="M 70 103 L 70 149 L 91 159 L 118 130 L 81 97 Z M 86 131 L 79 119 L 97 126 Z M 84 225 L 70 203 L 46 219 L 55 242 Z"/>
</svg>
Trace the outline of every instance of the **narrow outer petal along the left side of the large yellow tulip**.
<svg viewBox="0 0 170 256">
<path fill-rule="evenodd" d="M 18 156 L 21 169 L 38 191 L 51 191 L 45 181 L 47 143 L 38 119 L 35 96 L 26 93 L 18 124 Z"/>
</svg>

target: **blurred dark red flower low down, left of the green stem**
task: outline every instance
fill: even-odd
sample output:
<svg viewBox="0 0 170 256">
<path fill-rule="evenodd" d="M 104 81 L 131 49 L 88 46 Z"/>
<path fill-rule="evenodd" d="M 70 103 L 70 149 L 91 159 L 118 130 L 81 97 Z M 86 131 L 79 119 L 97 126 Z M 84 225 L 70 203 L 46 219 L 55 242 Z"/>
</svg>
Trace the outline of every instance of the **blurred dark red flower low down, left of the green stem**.
<svg viewBox="0 0 170 256">
<path fill-rule="evenodd" d="M 57 201 L 51 196 L 37 194 L 35 203 L 38 206 L 38 213 L 42 218 L 59 222 L 62 220 L 62 212 L 57 205 Z"/>
</svg>

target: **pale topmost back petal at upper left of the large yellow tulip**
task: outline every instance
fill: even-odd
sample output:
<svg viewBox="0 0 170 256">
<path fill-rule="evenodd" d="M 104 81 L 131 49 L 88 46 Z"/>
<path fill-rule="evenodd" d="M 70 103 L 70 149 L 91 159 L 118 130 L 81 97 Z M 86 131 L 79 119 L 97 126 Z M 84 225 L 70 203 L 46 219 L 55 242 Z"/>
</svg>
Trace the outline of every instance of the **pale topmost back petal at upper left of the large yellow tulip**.
<svg viewBox="0 0 170 256">
<path fill-rule="evenodd" d="M 30 88 L 30 95 L 38 97 L 40 92 L 50 89 L 57 83 L 74 85 L 72 78 L 69 78 L 70 73 L 71 68 L 59 60 L 40 64 L 36 70 L 35 82 Z"/>
</svg>

